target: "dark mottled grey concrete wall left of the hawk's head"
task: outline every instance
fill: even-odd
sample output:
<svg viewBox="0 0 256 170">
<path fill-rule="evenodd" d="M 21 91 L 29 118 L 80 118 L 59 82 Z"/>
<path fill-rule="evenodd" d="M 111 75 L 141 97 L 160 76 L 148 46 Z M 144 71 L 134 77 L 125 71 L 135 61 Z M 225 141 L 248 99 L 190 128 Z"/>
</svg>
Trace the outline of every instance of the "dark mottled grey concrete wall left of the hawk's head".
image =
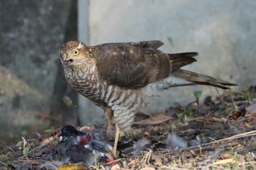
<svg viewBox="0 0 256 170">
<path fill-rule="evenodd" d="M 0 144 L 57 119 L 50 104 L 71 4 L 0 1 Z"/>
</svg>

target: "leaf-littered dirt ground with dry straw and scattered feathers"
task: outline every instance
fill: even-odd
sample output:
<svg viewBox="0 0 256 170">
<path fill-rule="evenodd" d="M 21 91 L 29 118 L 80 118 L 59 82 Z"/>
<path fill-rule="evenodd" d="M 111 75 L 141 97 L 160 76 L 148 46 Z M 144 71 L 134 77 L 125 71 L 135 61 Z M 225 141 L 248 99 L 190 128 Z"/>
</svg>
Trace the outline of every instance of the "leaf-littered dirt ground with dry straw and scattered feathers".
<svg viewBox="0 0 256 170">
<path fill-rule="evenodd" d="M 139 154 L 120 152 L 114 161 L 80 169 L 256 169 L 256 86 L 217 98 L 200 98 L 199 91 L 195 98 L 187 106 L 174 104 L 154 115 L 138 114 L 130 142 L 151 141 Z M 1 146 L 0 169 L 61 166 L 55 152 L 58 132 L 50 129 Z"/>
</svg>

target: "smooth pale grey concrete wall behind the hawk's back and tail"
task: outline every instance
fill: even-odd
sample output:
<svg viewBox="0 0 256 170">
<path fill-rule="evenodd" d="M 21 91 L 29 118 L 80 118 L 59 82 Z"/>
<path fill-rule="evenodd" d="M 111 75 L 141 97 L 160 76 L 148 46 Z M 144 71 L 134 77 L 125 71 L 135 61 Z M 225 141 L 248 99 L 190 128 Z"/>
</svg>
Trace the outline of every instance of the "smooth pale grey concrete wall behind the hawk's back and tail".
<svg viewBox="0 0 256 170">
<path fill-rule="evenodd" d="M 255 7 L 254 0 L 93 0 L 83 26 L 89 26 L 89 45 L 159 39 L 167 53 L 196 51 L 197 63 L 186 69 L 245 88 L 256 83 Z M 194 90 L 217 95 L 211 87 L 173 88 L 151 109 L 192 101 Z"/>
</svg>

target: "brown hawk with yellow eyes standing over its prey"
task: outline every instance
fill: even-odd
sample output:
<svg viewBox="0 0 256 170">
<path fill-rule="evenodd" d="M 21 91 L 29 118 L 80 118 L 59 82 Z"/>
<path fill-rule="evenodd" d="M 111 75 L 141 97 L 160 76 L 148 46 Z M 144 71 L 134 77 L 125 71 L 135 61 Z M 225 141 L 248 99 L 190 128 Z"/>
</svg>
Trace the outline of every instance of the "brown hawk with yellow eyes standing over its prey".
<svg viewBox="0 0 256 170">
<path fill-rule="evenodd" d="M 145 88 L 164 90 L 183 85 L 211 85 L 227 89 L 236 85 L 181 69 L 196 61 L 198 53 L 164 53 L 161 41 L 107 43 L 86 46 L 66 42 L 59 50 L 69 85 L 101 107 L 116 125 L 114 154 L 120 128 L 127 132 L 135 114 L 146 102 Z"/>
</svg>

